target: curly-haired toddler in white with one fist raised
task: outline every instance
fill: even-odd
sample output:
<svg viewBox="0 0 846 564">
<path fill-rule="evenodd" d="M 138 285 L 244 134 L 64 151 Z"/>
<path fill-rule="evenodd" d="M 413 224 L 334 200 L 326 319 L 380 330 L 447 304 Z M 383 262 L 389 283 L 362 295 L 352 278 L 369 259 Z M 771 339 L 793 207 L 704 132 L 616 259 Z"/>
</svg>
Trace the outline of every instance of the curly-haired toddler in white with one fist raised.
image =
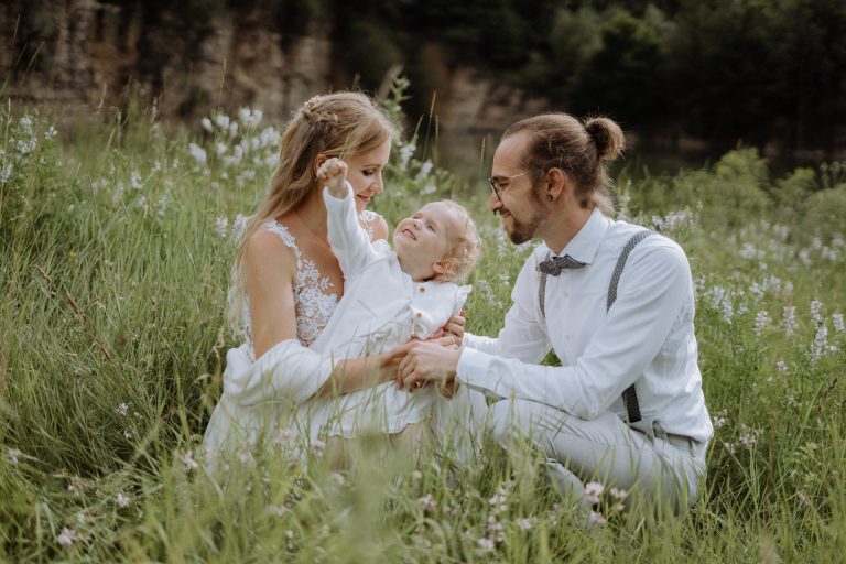
<svg viewBox="0 0 846 564">
<path fill-rule="evenodd" d="M 338 159 L 317 171 L 326 185 L 329 243 L 345 281 L 344 296 L 311 348 L 337 359 L 378 355 L 437 332 L 459 314 L 470 286 L 455 280 L 468 274 L 479 257 L 473 219 L 451 200 L 426 204 L 401 220 L 393 232 L 395 250 L 384 240 L 371 242 L 356 215 L 346 173 Z M 437 397 L 432 387 L 411 394 L 391 381 L 327 399 L 324 409 L 333 410 L 328 435 L 400 433 L 427 419 Z"/>
</svg>

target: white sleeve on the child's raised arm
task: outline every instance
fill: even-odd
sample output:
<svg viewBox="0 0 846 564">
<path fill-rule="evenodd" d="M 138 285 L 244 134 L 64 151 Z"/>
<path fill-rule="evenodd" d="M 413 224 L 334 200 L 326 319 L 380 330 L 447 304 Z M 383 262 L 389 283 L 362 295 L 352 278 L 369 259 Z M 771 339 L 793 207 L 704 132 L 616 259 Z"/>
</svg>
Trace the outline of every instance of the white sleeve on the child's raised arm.
<svg viewBox="0 0 846 564">
<path fill-rule="evenodd" d="M 323 200 L 326 204 L 326 219 L 329 230 L 332 251 L 340 263 L 345 278 L 350 278 L 361 271 L 367 264 L 379 258 L 370 243 L 370 237 L 358 223 L 356 202 L 352 186 L 347 185 L 347 195 L 336 198 L 323 188 Z"/>
</svg>

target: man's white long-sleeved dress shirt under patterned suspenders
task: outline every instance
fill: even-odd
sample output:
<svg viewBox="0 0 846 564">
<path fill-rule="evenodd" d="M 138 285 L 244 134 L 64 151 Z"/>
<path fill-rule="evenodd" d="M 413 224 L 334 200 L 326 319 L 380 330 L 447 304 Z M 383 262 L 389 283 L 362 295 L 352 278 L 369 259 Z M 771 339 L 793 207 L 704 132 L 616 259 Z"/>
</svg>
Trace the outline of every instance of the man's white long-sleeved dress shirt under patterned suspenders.
<svg viewBox="0 0 846 564">
<path fill-rule="evenodd" d="M 562 252 L 586 267 L 546 279 L 545 319 L 536 265 L 551 252 L 541 243 L 517 278 L 513 305 L 499 336 L 465 336 L 458 382 L 583 420 L 609 411 L 625 417 L 621 395 L 634 383 L 644 422 L 658 421 L 670 434 L 708 441 L 713 427 L 696 361 L 693 283 L 681 247 L 660 235 L 634 247 L 617 301 L 606 313 L 617 260 L 641 229 L 595 209 Z M 550 348 L 561 367 L 539 365 Z"/>
</svg>

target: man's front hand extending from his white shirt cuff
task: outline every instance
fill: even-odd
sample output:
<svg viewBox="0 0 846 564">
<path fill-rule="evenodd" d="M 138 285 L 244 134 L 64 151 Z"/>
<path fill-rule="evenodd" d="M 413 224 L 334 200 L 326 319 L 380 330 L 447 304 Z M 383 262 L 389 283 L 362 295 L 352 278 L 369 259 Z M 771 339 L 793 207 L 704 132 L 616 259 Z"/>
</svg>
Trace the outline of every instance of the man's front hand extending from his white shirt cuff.
<svg viewBox="0 0 846 564">
<path fill-rule="evenodd" d="M 445 343 L 452 337 L 442 337 Z M 443 346 L 437 341 L 412 341 L 406 348 L 405 357 L 400 361 L 397 375 L 397 386 L 414 390 L 432 382 L 437 390 L 451 398 L 455 392 L 455 370 L 462 351 L 455 345 Z"/>
</svg>

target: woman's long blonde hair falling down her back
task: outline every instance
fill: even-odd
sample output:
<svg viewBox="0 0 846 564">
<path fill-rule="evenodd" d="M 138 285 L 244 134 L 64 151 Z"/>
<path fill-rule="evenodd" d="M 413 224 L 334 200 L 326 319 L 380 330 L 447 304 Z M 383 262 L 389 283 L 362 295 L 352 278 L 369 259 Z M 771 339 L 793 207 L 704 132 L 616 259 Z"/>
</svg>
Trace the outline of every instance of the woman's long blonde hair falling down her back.
<svg viewBox="0 0 846 564">
<path fill-rule="evenodd" d="M 267 197 L 247 225 L 232 267 L 228 319 L 237 335 L 245 333 L 243 256 L 250 237 L 264 221 L 299 208 L 318 188 L 314 173 L 317 155 L 345 158 L 377 149 L 392 138 L 393 126 L 388 117 L 361 93 L 315 96 L 294 112 L 282 134 Z"/>
</svg>

